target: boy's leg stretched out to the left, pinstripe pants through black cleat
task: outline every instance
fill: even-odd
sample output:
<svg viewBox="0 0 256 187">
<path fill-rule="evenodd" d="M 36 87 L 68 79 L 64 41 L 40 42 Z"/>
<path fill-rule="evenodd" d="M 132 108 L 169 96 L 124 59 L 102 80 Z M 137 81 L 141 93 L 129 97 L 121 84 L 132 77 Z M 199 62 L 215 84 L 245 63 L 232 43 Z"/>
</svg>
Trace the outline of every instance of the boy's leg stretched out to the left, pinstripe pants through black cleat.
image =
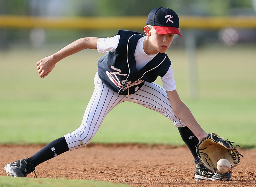
<svg viewBox="0 0 256 187">
<path fill-rule="evenodd" d="M 33 172 L 38 164 L 68 150 L 85 147 L 92 140 L 108 112 L 124 100 L 124 96 L 120 96 L 102 83 L 98 73 L 94 77 L 94 84 L 95 89 L 80 127 L 64 137 L 53 140 L 30 158 L 6 164 L 4 170 L 8 176 L 25 177 Z"/>
</svg>

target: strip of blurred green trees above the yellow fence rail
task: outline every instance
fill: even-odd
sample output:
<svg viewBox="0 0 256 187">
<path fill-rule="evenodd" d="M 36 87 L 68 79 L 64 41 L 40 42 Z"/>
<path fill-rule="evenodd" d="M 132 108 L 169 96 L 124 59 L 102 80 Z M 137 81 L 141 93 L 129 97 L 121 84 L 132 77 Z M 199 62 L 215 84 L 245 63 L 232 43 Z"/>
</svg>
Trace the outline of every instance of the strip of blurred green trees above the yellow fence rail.
<svg viewBox="0 0 256 187">
<path fill-rule="evenodd" d="M 255 15 L 255 0 L 0 0 L 0 14 L 38 16 L 141 16 L 166 6 L 179 15 Z"/>
</svg>

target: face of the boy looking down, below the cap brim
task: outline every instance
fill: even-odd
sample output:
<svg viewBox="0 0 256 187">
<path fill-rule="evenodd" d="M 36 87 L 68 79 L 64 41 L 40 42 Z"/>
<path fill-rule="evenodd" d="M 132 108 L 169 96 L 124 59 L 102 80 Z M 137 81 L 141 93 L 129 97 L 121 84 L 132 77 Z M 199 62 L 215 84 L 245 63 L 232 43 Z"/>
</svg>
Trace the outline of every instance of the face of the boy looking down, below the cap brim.
<svg viewBox="0 0 256 187">
<path fill-rule="evenodd" d="M 153 50 L 155 50 L 156 53 L 157 52 L 165 53 L 172 43 L 174 33 L 162 35 L 162 34 L 158 34 L 154 28 L 150 29 L 149 32 L 150 32 L 149 38 L 151 40 Z"/>
</svg>

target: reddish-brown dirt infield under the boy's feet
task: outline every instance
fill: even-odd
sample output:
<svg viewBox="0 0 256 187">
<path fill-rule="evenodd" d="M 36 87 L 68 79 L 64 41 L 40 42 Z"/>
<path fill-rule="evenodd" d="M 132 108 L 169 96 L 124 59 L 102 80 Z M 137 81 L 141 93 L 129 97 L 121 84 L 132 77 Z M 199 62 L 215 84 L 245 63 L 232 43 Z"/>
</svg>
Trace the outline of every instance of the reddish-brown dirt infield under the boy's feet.
<svg viewBox="0 0 256 187">
<path fill-rule="evenodd" d="M 0 176 L 6 163 L 26 158 L 44 146 L 0 145 Z M 231 181 L 198 181 L 187 147 L 137 144 L 89 144 L 68 151 L 36 167 L 40 178 L 66 178 L 126 183 L 138 187 L 256 186 L 256 150 L 238 149 L 244 155 L 231 170 Z M 28 177 L 35 177 L 34 173 Z"/>
</svg>

